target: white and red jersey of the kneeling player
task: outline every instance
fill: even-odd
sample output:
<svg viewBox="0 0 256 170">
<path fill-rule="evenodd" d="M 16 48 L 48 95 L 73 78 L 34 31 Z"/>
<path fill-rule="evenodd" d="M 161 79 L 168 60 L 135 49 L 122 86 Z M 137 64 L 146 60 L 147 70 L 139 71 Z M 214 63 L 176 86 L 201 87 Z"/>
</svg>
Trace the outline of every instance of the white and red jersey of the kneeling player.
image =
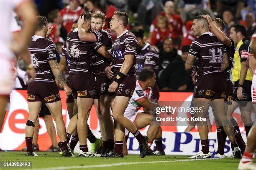
<svg viewBox="0 0 256 170">
<path fill-rule="evenodd" d="M 138 110 L 141 108 L 141 105 L 138 104 L 138 100 L 141 100 L 144 97 L 151 99 L 152 89 L 151 87 L 148 87 L 146 90 L 143 91 L 141 87 L 141 82 L 137 80 L 133 95 L 129 101 L 127 108 L 125 109 L 125 117 L 131 118 L 136 114 L 136 112 L 138 112 Z"/>
</svg>

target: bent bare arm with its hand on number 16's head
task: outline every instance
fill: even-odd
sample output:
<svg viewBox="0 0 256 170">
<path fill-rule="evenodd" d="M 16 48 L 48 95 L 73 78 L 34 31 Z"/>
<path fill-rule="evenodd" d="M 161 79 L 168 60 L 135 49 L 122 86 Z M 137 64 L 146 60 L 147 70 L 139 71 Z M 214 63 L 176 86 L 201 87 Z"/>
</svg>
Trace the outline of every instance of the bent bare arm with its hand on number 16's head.
<svg viewBox="0 0 256 170">
<path fill-rule="evenodd" d="M 97 41 L 96 36 L 92 32 L 87 32 L 87 30 L 85 30 L 83 28 L 83 24 L 84 24 L 84 16 L 82 16 L 82 18 L 80 16 L 78 21 L 77 21 L 78 37 L 80 38 L 80 40 L 89 41 L 89 42 L 96 42 Z"/>
</svg>

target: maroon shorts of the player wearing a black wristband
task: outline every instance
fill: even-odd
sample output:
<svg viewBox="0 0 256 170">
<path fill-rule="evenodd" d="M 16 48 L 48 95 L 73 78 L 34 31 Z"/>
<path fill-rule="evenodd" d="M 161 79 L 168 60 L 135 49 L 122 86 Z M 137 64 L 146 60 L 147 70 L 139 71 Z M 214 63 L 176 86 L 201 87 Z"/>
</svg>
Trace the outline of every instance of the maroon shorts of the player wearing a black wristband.
<svg viewBox="0 0 256 170">
<path fill-rule="evenodd" d="M 115 80 L 115 76 L 110 80 L 111 83 Z M 125 96 L 131 98 L 136 87 L 136 77 L 126 76 L 125 79 L 118 84 L 115 93 L 110 93 L 110 95 L 115 96 Z"/>
</svg>

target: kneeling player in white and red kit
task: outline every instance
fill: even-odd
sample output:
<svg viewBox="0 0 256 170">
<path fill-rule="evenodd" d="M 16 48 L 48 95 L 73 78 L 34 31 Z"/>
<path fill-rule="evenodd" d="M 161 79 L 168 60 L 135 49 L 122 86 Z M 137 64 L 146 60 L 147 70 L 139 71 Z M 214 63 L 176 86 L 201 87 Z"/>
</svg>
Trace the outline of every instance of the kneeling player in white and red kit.
<svg viewBox="0 0 256 170">
<path fill-rule="evenodd" d="M 141 129 L 150 125 L 147 131 L 147 136 L 149 141 L 154 141 L 154 139 L 161 139 L 162 133 L 159 126 L 159 122 L 156 121 L 153 115 L 146 112 L 138 112 L 140 107 L 144 108 L 144 111 L 150 111 L 157 103 L 151 102 L 152 97 L 152 87 L 154 87 L 156 82 L 156 74 L 151 69 L 145 69 L 141 71 L 138 80 L 136 81 L 135 92 L 133 93 L 128 107 L 125 110 L 125 117 L 128 117 L 133 121 L 136 128 Z M 154 121 L 155 120 L 155 121 Z M 125 140 L 128 139 L 129 131 L 125 130 Z M 126 142 L 126 141 L 125 141 Z M 162 148 L 162 143 L 156 141 L 156 151 L 150 150 L 148 145 L 147 155 L 165 155 Z M 126 146 L 124 145 L 124 148 Z"/>
</svg>

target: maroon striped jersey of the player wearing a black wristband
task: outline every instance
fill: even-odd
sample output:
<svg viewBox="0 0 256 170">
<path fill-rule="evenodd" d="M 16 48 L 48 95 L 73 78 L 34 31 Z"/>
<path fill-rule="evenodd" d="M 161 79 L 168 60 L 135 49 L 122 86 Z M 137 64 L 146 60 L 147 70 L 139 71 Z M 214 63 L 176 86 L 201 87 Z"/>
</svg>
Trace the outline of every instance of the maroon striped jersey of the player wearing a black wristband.
<svg viewBox="0 0 256 170">
<path fill-rule="evenodd" d="M 138 41 L 136 37 L 128 30 L 125 30 L 123 34 L 116 37 L 112 45 L 112 56 L 113 56 L 113 72 L 114 76 L 118 74 L 121 66 L 124 62 L 125 55 L 134 55 L 133 65 L 128 71 L 128 76 L 134 76 L 136 72 L 136 50 L 138 46 Z"/>
</svg>

